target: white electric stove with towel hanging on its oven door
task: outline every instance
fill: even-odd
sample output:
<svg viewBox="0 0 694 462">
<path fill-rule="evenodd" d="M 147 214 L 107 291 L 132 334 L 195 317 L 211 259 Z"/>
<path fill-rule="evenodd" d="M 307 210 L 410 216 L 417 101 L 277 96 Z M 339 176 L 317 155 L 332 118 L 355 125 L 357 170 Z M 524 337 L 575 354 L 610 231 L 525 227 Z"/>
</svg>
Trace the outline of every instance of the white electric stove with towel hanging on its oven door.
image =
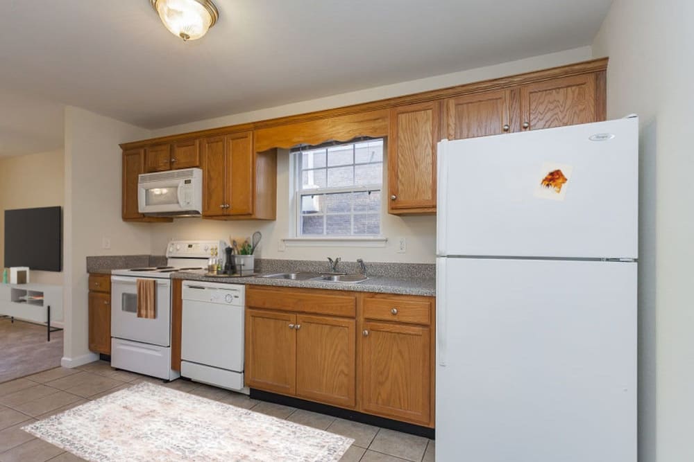
<svg viewBox="0 0 694 462">
<path fill-rule="evenodd" d="M 180 377 L 171 369 L 171 274 L 206 272 L 211 256 L 223 258 L 221 240 L 177 240 L 167 245 L 167 265 L 111 272 L 111 366 L 163 380 Z M 222 263 L 223 264 L 223 263 Z M 156 281 L 155 319 L 137 317 L 137 280 Z"/>
</svg>

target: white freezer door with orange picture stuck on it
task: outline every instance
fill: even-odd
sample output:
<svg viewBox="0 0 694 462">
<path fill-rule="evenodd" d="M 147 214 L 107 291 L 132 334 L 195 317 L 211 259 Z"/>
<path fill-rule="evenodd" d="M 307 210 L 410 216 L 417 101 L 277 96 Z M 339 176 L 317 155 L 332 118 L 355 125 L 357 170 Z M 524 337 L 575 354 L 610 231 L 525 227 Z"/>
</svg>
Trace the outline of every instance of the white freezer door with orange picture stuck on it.
<svg viewBox="0 0 694 462">
<path fill-rule="evenodd" d="M 439 143 L 439 256 L 636 258 L 638 118 Z"/>
</svg>

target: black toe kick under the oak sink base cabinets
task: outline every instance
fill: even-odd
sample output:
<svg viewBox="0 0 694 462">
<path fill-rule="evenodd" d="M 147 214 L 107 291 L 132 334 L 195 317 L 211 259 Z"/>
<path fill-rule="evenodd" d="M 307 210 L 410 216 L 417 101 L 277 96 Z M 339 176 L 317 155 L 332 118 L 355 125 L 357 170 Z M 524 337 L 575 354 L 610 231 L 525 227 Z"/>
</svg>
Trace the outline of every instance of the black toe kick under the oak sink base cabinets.
<svg viewBox="0 0 694 462">
<path fill-rule="evenodd" d="M 298 407 L 299 409 L 305 409 L 307 411 L 328 414 L 328 416 L 344 418 L 346 420 L 354 420 L 355 422 L 375 425 L 376 427 L 396 430 L 397 432 L 424 436 L 425 438 L 434 439 L 436 436 L 436 432 L 434 432 L 433 428 L 422 427 L 421 425 L 400 422 L 399 420 L 392 420 L 389 418 L 372 416 L 371 414 L 363 414 L 362 412 L 350 411 L 350 409 L 343 409 L 341 407 L 323 405 L 319 402 L 302 400 L 301 398 L 278 395 L 277 393 L 271 393 L 269 391 L 262 391 L 252 388 L 251 398 L 261 401 L 274 402 L 278 405 Z"/>
</svg>

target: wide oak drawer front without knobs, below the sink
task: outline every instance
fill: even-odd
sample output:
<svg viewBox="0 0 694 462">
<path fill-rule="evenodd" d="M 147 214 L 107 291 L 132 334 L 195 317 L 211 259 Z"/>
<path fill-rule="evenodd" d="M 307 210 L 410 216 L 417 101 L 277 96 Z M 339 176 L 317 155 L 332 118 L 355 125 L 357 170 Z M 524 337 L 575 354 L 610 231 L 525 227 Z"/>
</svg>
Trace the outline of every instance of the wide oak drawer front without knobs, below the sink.
<svg viewBox="0 0 694 462">
<path fill-rule="evenodd" d="M 251 308 L 269 310 L 330 314 L 352 318 L 356 316 L 355 296 L 334 295 L 326 292 L 328 291 L 250 285 L 246 288 L 246 305 Z"/>
</svg>

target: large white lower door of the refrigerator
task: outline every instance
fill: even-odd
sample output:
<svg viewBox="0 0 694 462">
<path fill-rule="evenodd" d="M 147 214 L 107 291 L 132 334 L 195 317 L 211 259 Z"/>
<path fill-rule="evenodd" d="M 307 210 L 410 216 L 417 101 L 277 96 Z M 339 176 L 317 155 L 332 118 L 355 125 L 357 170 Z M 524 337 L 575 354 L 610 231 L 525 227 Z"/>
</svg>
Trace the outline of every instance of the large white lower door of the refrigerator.
<svg viewBox="0 0 694 462">
<path fill-rule="evenodd" d="M 636 263 L 441 260 L 437 461 L 635 462 Z"/>
</svg>

